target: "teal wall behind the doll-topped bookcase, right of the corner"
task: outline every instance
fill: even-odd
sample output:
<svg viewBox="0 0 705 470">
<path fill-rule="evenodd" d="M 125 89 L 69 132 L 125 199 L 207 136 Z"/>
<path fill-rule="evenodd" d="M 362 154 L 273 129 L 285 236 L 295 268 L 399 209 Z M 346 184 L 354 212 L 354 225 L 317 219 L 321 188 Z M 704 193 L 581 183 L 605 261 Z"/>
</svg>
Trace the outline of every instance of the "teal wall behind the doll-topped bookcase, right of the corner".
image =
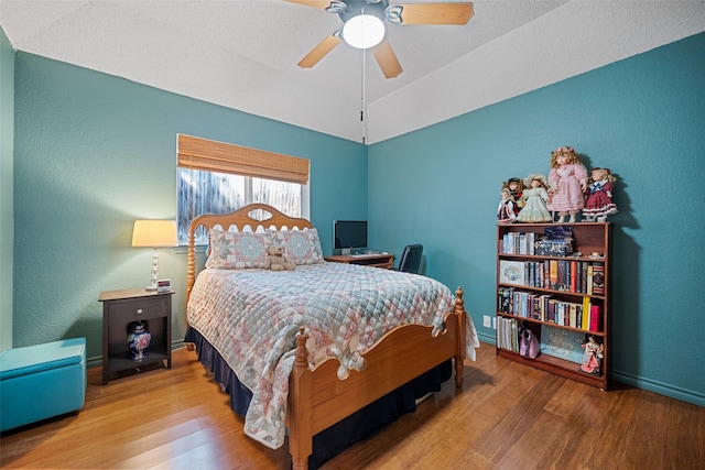
<svg viewBox="0 0 705 470">
<path fill-rule="evenodd" d="M 370 146 L 372 243 L 423 243 L 425 273 L 463 286 L 494 342 L 482 315 L 495 311 L 501 182 L 547 174 L 560 145 L 619 178 L 615 378 L 705 406 L 705 34 Z"/>
</svg>

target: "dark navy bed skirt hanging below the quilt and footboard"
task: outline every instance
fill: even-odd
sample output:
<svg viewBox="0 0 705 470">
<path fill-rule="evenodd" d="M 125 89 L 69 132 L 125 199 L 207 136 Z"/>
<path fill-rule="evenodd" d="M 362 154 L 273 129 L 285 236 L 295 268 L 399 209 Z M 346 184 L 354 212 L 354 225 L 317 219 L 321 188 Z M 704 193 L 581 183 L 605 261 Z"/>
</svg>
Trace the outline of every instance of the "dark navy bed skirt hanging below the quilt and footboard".
<svg viewBox="0 0 705 470">
<path fill-rule="evenodd" d="M 214 375 L 230 396 L 230 408 L 245 416 L 252 393 L 242 385 L 220 353 L 194 328 L 186 330 L 185 342 L 193 342 L 198 360 Z M 392 423 L 404 413 L 416 411 L 416 400 L 441 390 L 441 384 L 453 374 L 453 362 L 447 360 L 416 379 L 388 393 L 362 409 L 322 430 L 313 437 L 313 455 L 308 468 L 317 469 L 352 444 L 365 439 L 380 427 Z"/>
</svg>

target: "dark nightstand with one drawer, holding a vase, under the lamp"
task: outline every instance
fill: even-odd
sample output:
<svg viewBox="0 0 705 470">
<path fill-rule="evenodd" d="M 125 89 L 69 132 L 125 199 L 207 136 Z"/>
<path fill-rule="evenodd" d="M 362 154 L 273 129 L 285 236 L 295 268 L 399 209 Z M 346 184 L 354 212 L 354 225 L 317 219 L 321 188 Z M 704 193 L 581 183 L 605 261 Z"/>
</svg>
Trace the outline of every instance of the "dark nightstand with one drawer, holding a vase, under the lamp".
<svg viewBox="0 0 705 470">
<path fill-rule="evenodd" d="M 105 291 L 102 302 L 102 384 L 128 373 L 155 367 L 172 368 L 172 295 L 144 288 Z M 130 324 L 142 320 L 152 335 L 142 359 L 132 359 L 128 348 Z"/>
</svg>

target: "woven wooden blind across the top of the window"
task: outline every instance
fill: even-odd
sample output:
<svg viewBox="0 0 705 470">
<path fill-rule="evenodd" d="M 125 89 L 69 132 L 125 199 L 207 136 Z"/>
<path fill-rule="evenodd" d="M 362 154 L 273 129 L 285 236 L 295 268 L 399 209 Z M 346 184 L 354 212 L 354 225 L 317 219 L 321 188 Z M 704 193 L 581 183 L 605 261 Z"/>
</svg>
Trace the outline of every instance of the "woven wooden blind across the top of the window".
<svg viewBox="0 0 705 470">
<path fill-rule="evenodd" d="M 305 185 L 308 160 L 191 135 L 177 135 L 177 165 Z"/>
</svg>

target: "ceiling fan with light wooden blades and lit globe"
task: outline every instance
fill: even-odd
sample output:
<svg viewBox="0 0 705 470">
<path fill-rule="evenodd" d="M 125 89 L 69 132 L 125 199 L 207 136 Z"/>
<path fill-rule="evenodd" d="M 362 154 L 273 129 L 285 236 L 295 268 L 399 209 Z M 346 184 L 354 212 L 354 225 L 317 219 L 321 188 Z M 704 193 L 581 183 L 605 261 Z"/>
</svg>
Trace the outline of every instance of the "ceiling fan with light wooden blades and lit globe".
<svg viewBox="0 0 705 470">
<path fill-rule="evenodd" d="M 304 7 L 335 13 L 343 20 L 343 28 L 334 31 L 299 62 L 302 68 L 311 68 L 341 41 L 358 48 L 372 47 L 382 74 L 394 78 L 402 73 L 401 64 L 384 39 L 384 23 L 389 24 L 466 24 L 473 17 L 473 3 L 403 3 L 389 4 L 389 0 L 285 0 Z"/>
</svg>

